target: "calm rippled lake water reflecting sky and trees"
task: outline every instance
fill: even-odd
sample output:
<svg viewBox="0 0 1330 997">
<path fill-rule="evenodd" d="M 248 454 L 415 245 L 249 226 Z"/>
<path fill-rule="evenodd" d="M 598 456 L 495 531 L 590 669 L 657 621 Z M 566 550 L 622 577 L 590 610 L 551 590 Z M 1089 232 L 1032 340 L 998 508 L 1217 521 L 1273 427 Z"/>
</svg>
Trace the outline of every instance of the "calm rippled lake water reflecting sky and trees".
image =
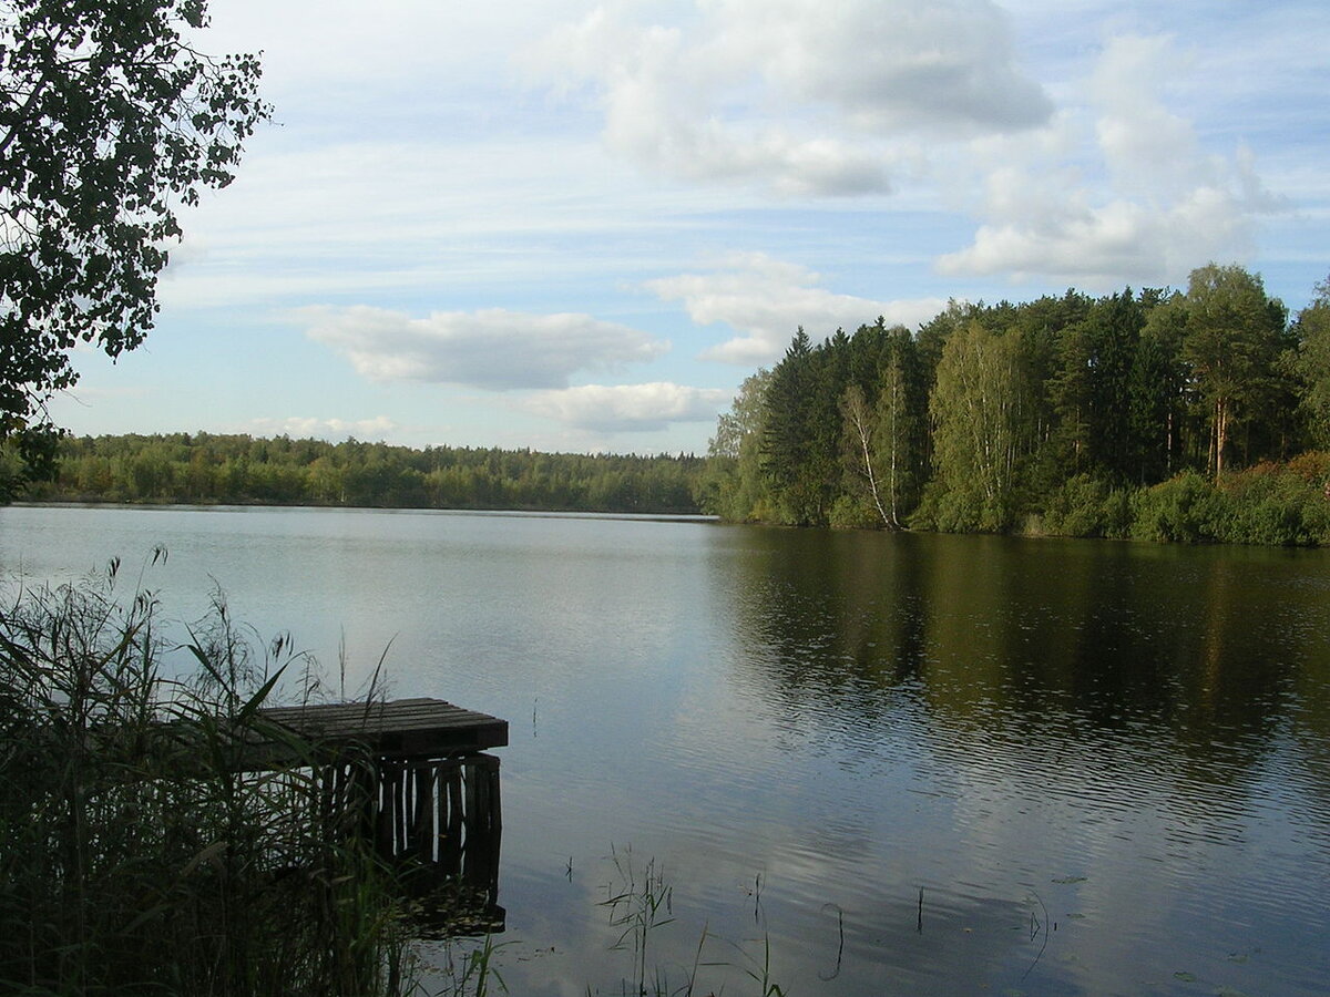
<svg viewBox="0 0 1330 997">
<path fill-rule="evenodd" d="M 1330 552 L 0 509 L 8 578 L 112 557 L 511 722 L 513 994 L 633 978 L 612 852 L 673 887 L 670 988 L 725 964 L 698 994 L 1330 990 Z"/>
</svg>

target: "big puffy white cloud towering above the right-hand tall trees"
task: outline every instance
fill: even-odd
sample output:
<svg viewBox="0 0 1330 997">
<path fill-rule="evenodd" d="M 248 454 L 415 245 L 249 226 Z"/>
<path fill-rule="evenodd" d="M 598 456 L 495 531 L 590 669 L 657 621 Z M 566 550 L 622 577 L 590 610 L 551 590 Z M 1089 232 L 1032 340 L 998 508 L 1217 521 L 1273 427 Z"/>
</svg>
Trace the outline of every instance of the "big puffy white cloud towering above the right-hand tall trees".
<svg viewBox="0 0 1330 997">
<path fill-rule="evenodd" d="M 1162 283 L 1242 255 L 1256 217 L 1279 201 L 1249 150 L 1206 154 L 1192 124 L 1169 110 L 1161 93 L 1181 62 L 1169 39 L 1113 39 L 1080 113 L 1059 116 L 1037 142 L 976 145 L 976 160 L 1001 165 L 984 179 L 974 242 L 939 258 L 939 270 Z"/>
</svg>

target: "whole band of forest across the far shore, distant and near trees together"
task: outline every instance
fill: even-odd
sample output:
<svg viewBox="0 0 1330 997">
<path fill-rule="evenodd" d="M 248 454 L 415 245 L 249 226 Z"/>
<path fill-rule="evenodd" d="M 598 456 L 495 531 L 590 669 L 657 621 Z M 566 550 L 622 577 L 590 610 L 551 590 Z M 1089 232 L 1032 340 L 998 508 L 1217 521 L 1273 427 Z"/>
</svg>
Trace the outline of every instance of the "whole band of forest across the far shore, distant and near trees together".
<svg viewBox="0 0 1330 997">
<path fill-rule="evenodd" d="M 0 452 L 0 485 L 25 472 Z M 49 501 L 696 513 L 779 525 L 1330 544 L 1330 280 L 952 302 L 743 382 L 705 459 L 210 433 L 60 440 Z"/>
</svg>

